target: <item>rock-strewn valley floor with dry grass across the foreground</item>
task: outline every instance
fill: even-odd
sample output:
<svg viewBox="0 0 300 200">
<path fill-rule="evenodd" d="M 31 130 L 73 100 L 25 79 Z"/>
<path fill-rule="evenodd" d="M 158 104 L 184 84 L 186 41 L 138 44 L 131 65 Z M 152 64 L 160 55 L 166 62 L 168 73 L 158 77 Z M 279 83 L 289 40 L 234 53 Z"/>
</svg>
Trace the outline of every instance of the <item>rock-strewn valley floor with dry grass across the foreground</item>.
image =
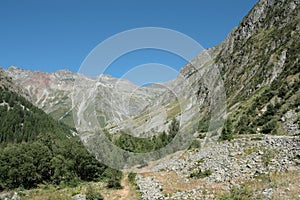
<svg viewBox="0 0 300 200">
<path fill-rule="evenodd" d="M 136 176 L 124 174 L 123 189 L 103 183 L 74 188 L 41 186 L 18 191 L 20 199 L 83 200 L 91 185 L 108 200 L 300 199 L 299 136 L 244 135 L 230 142 L 177 152 L 149 163 Z M 81 195 L 82 194 L 82 195 Z"/>
</svg>

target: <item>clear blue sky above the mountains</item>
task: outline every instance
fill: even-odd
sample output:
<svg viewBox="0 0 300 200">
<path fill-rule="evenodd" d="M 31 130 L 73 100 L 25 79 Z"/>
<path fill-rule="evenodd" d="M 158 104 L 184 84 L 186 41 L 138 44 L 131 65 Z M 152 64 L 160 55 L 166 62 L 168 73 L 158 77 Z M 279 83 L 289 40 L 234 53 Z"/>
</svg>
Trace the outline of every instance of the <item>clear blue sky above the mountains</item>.
<svg viewBox="0 0 300 200">
<path fill-rule="evenodd" d="M 208 48 L 223 41 L 256 2 L 0 0 L 0 66 L 78 71 L 97 44 L 121 31 L 145 26 L 180 31 Z M 120 77 L 131 67 L 149 62 L 177 70 L 185 63 L 174 55 L 149 50 L 120 58 L 108 73 Z"/>
</svg>

